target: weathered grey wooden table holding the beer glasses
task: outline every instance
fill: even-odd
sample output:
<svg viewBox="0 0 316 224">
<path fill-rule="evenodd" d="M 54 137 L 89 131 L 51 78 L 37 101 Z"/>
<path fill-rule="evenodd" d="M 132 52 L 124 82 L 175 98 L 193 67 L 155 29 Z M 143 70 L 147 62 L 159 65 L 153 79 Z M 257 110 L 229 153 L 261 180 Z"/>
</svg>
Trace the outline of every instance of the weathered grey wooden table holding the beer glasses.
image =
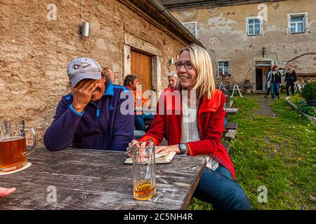
<svg viewBox="0 0 316 224">
<path fill-rule="evenodd" d="M 31 167 L 0 176 L 2 188 L 17 188 L 0 199 L 0 209 L 186 209 L 206 166 L 202 157 L 176 155 L 156 166 L 157 194 L 138 201 L 125 158 L 117 151 L 39 147 L 29 156 Z"/>
</svg>

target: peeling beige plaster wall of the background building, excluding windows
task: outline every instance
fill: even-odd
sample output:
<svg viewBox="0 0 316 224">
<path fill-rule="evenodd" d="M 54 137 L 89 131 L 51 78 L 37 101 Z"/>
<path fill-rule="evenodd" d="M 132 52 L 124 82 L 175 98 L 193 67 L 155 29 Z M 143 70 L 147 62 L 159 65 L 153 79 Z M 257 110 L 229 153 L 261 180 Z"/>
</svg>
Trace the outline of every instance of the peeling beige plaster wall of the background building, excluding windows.
<svg viewBox="0 0 316 224">
<path fill-rule="evenodd" d="M 174 10 L 171 12 L 180 22 L 197 22 L 197 38 L 209 50 L 216 62 L 230 62 L 232 83 L 245 79 L 254 81 L 254 61 L 261 59 L 265 47 L 265 59 L 274 60 L 284 67 L 291 62 L 302 74 L 316 74 L 316 1 L 289 0 L 265 3 L 267 20 L 263 21 L 263 35 L 246 35 L 246 17 L 264 13 L 259 4 Z M 289 34 L 288 13 L 308 13 L 308 31 L 305 34 Z"/>
</svg>

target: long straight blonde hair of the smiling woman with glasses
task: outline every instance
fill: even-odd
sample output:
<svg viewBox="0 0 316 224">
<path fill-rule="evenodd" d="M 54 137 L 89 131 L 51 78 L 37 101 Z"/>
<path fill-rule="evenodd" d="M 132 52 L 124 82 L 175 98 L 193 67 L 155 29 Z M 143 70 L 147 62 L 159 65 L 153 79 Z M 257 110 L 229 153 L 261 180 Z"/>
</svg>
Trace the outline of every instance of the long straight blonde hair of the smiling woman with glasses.
<svg viewBox="0 0 316 224">
<path fill-rule="evenodd" d="M 193 90 L 197 90 L 197 99 L 201 99 L 204 96 L 207 97 L 207 99 L 211 99 L 211 95 L 216 90 L 216 87 L 209 53 L 196 44 L 188 45 L 183 48 L 180 51 L 180 55 L 185 50 L 190 52 L 191 62 L 197 71 L 197 83 L 195 83 L 193 87 Z M 178 85 L 180 85 L 180 83 L 177 83 L 177 86 Z"/>
</svg>

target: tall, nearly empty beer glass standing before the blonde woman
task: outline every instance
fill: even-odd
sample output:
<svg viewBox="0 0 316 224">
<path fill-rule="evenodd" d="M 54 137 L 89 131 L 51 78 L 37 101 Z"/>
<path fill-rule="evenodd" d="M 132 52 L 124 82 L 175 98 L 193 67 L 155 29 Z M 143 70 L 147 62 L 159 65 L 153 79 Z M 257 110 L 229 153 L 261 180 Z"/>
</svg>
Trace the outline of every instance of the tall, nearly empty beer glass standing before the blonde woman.
<svg viewBox="0 0 316 224">
<path fill-rule="evenodd" d="M 133 191 L 136 200 L 148 200 L 156 194 L 154 143 L 141 141 L 131 147 L 133 158 Z"/>
</svg>

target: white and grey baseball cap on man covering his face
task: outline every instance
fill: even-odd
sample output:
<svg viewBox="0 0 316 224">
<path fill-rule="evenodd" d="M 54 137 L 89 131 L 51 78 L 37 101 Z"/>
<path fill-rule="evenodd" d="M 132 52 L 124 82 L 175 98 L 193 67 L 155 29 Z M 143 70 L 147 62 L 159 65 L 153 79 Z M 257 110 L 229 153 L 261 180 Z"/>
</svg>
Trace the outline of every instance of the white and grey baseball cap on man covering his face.
<svg viewBox="0 0 316 224">
<path fill-rule="evenodd" d="M 89 57 L 73 59 L 67 67 L 67 74 L 72 83 L 72 87 L 76 86 L 85 78 L 99 80 L 101 78 L 101 72 L 102 68 L 100 64 Z"/>
</svg>

